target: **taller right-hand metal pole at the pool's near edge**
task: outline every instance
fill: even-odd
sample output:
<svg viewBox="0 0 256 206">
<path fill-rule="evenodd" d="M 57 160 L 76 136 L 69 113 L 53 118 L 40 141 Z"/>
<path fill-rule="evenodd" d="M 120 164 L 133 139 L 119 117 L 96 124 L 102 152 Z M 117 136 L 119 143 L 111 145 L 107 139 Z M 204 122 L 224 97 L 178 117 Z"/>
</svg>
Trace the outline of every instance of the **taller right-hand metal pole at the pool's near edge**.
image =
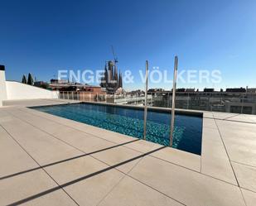
<svg viewBox="0 0 256 206">
<path fill-rule="evenodd" d="M 173 132 L 174 132 L 174 116 L 175 116 L 175 94 L 176 94 L 176 77 L 178 70 L 178 57 L 175 56 L 174 72 L 173 72 L 173 89 L 172 89 L 172 104 L 171 104 L 171 134 L 170 134 L 170 146 L 172 146 Z"/>
</svg>

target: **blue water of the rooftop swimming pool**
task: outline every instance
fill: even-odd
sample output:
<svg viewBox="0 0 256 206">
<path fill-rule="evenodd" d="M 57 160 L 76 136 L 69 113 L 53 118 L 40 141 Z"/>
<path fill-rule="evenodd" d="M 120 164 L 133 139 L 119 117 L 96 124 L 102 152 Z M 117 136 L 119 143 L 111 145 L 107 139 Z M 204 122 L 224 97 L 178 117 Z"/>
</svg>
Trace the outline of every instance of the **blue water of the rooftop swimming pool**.
<svg viewBox="0 0 256 206">
<path fill-rule="evenodd" d="M 132 137 L 143 137 L 142 109 L 75 103 L 36 107 L 41 112 L 65 117 Z M 147 141 L 169 146 L 171 114 L 147 111 Z M 197 155 L 201 152 L 202 118 L 176 114 L 173 147 Z"/>
</svg>

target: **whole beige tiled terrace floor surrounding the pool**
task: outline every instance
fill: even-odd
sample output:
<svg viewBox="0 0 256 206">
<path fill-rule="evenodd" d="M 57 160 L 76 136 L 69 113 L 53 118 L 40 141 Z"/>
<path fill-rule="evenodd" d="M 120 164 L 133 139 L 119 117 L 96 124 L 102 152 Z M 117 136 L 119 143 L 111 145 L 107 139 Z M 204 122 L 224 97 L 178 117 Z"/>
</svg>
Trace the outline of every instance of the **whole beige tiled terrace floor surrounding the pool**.
<svg viewBox="0 0 256 206">
<path fill-rule="evenodd" d="M 0 205 L 256 205 L 256 117 L 204 113 L 202 154 L 0 108 Z"/>
</svg>

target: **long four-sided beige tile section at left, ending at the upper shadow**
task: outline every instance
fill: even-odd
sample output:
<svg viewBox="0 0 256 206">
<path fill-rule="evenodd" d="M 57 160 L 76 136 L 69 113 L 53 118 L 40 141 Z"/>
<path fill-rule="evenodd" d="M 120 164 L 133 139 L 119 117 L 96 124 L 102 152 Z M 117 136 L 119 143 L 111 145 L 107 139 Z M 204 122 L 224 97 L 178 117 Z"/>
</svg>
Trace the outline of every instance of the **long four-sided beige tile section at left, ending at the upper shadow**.
<svg viewBox="0 0 256 206">
<path fill-rule="evenodd" d="M 16 127 L 13 127 L 13 125 Z M 13 118 L 12 122 L 2 123 L 2 126 L 41 165 L 83 154 L 72 146 L 68 146 L 64 142 L 16 118 Z"/>
</svg>

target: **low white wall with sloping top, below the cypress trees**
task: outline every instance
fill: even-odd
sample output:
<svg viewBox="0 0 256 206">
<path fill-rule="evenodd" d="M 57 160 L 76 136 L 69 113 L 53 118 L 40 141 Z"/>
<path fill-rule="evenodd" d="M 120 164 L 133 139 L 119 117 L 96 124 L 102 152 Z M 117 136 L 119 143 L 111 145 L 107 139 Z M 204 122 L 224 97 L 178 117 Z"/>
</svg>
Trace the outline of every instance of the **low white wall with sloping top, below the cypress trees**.
<svg viewBox="0 0 256 206">
<path fill-rule="evenodd" d="M 6 81 L 7 100 L 32 98 L 58 98 L 59 92 L 41 89 L 15 81 Z"/>
</svg>

